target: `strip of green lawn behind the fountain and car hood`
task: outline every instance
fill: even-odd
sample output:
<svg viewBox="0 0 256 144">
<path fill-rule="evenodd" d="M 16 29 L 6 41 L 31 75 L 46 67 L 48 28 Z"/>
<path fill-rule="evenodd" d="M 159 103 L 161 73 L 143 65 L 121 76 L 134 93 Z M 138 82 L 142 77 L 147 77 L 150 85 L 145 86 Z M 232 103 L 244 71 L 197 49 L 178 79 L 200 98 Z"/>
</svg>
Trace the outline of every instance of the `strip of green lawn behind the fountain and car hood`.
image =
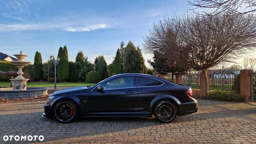
<svg viewBox="0 0 256 144">
<path fill-rule="evenodd" d="M 11 82 L 0 82 L 0 86 L 10 86 Z M 57 87 L 94 85 L 92 83 L 57 83 Z M 28 87 L 54 87 L 54 83 L 27 83 Z"/>
</svg>

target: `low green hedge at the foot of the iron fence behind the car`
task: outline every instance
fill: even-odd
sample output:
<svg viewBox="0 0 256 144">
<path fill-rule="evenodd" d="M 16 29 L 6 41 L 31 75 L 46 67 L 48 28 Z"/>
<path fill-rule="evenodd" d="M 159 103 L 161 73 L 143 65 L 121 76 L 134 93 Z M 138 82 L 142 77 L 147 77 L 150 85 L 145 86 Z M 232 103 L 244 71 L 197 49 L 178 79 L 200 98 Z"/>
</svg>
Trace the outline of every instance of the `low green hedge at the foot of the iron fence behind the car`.
<svg viewBox="0 0 256 144">
<path fill-rule="evenodd" d="M 243 96 L 236 91 L 214 90 L 208 92 L 208 97 L 212 100 L 243 101 Z"/>
</svg>

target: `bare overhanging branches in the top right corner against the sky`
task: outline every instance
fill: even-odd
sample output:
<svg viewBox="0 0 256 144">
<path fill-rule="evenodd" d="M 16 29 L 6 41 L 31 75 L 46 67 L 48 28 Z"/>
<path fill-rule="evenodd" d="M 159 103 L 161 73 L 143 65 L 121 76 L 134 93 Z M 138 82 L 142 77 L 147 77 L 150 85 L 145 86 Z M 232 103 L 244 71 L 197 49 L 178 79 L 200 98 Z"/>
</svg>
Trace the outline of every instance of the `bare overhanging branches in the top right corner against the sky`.
<svg viewBox="0 0 256 144">
<path fill-rule="evenodd" d="M 234 16 L 256 14 L 256 0 L 191 0 L 188 3 L 196 8 L 208 8 L 210 10 L 208 12 L 203 11 L 202 15 L 219 14 L 221 12 L 227 12 Z"/>
</svg>

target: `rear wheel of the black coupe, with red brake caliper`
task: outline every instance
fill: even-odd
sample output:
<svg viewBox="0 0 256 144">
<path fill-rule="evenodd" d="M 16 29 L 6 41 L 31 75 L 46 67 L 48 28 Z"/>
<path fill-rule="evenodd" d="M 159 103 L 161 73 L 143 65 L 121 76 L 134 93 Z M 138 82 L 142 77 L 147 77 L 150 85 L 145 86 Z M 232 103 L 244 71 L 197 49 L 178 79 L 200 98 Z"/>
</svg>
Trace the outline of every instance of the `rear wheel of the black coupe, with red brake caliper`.
<svg viewBox="0 0 256 144">
<path fill-rule="evenodd" d="M 161 123 L 170 123 L 176 118 L 178 110 L 173 102 L 163 100 L 155 105 L 153 113 Z"/>
</svg>

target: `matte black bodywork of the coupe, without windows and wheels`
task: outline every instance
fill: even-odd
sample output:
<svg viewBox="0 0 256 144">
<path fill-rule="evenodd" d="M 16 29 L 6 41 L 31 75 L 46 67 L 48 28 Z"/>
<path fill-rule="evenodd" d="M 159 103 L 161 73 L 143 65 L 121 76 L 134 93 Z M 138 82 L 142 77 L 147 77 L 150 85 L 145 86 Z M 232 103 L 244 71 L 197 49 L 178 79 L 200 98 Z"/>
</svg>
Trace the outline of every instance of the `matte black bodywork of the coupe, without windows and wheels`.
<svg viewBox="0 0 256 144">
<path fill-rule="evenodd" d="M 135 76 L 133 87 L 107 89 L 99 92 L 97 85 L 122 76 Z M 137 87 L 137 77 L 145 76 L 161 81 L 159 86 Z M 120 74 L 112 76 L 91 88 L 80 86 L 52 93 L 54 98 L 44 105 L 43 117 L 51 118 L 53 108 L 60 100 L 72 100 L 81 116 L 148 116 L 153 114 L 154 106 L 161 100 L 170 100 L 178 108 L 178 116 L 197 111 L 197 101 L 185 92 L 190 87 L 171 83 L 165 79 L 145 74 Z"/>
</svg>

